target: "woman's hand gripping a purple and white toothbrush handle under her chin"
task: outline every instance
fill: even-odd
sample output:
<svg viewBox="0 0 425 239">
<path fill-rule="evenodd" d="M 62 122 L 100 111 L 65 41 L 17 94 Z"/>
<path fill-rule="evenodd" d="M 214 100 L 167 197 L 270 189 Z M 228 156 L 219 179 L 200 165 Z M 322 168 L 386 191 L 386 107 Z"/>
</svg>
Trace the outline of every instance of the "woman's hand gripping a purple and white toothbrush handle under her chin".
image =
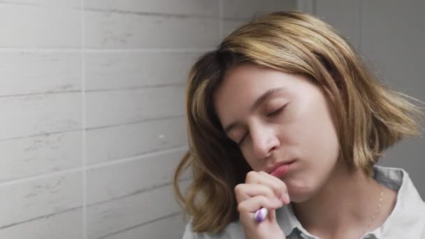
<svg viewBox="0 0 425 239">
<path fill-rule="evenodd" d="M 235 187 L 240 222 L 248 239 L 284 239 L 284 233 L 276 222 L 275 210 L 288 204 L 287 187 L 282 180 L 263 171 L 247 173 L 245 183 Z M 263 222 L 254 219 L 254 213 L 267 208 Z"/>
</svg>

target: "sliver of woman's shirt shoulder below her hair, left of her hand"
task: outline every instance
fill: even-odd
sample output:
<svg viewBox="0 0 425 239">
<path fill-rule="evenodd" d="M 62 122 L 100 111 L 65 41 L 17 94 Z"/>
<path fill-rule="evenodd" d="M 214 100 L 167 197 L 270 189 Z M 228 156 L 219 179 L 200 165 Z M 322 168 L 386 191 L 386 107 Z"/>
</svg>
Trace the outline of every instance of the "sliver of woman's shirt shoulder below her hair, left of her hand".
<svg viewBox="0 0 425 239">
<path fill-rule="evenodd" d="M 227 225 L 220 233 L 194 233 L 191 222 L 186 225 L 185 234 L 182 239 L 239 239 L 245 238 L 243 226 L 239 221 Z"/>
</svg>

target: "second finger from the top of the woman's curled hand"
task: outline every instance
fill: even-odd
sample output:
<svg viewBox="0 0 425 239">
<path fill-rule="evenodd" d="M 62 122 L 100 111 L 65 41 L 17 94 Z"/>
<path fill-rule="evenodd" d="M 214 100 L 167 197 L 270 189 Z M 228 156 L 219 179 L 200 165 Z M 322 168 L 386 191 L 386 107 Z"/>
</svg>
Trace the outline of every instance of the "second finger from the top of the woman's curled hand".
<svg viewBox="0 0 425 239">
<path fill-rule="evenodd" d="M 259 195 L 268 198 L 278 198 L 270 187 L 263 184 L 238 184 L 235 187 L 235 195 L 238 203 Z"/>
</svg>

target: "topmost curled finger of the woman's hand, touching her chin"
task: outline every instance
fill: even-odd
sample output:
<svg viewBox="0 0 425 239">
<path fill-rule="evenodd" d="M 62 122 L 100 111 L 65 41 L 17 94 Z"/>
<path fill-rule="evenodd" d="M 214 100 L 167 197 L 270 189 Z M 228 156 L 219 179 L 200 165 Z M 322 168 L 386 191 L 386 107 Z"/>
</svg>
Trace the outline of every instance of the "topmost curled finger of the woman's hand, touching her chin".
<svg viewBox="0 0 425 239">
<path fill-rule="evenodd" d="M 290 202 L 286 184 L 284 184 L 282 180 L 275 178 L 273 175 L 269 175 L 264 171 L 250 171 L 247 173 L 245 183 L 266 185 L 272 189 L 275 196 L 280 198 L 283 203 L 287 204 Z"/>
</svg>

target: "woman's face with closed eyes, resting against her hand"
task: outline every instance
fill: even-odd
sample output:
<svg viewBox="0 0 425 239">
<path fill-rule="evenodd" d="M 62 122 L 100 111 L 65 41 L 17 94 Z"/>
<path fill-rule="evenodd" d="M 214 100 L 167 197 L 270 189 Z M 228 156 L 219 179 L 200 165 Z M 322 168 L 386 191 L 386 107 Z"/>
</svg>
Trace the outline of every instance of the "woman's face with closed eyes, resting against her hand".
<svg viewBox="0 0 425 239">
<path fill-rule="evenodd" d="M 214 106 L 254 171 L 293 162 L 278 175 L 291 201 L 308 200 L 329 179 L 339 155 L 336 127 L 322 90 L 307 78 L 236 66 L 215 92 Z"/>
</svg>

